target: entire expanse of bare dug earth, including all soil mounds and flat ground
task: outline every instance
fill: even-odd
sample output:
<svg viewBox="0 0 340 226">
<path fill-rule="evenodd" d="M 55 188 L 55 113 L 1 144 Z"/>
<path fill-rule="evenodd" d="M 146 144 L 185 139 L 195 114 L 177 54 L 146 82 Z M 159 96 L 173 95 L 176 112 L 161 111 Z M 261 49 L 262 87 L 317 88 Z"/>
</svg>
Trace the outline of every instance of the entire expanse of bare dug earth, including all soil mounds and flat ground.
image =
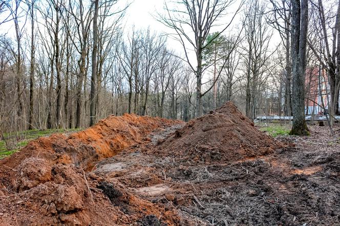
<svg viewBox="0 0 340 226">
<path fill-rule="evenodd" d="M 188 123 L 109 117 L 1 162 L 0 224 L 339 224 L 338 139 L 310 129 L 275 140 L 230 102 Z"/>
</svg>

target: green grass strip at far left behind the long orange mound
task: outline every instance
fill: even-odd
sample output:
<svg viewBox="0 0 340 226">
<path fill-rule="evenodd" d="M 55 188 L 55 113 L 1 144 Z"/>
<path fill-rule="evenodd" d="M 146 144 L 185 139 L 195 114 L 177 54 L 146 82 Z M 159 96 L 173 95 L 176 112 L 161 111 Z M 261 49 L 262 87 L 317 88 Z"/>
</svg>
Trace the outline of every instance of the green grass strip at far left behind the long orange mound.
<svg viewBox="0 0 340 226">
<path fill-rule="evenodd" d="M 17 133 L 4 133 L 4 137 L 8 139 L 10 142 L 13 143 L 13 140 L 16 140 L 16 135 L 19 134 L 19 137 L 22 137 L 22 140 L 15 141 L 13 144 L 13 148 L 9 150 L 6 146 L 5 141 L 0 141 L 0 159 L 4 159 L 15 153 L 16 151 L 20 150 L 20 148 L 25 147 L 28 142 L 31 140 L 40 138 L 40 137 L 47 137 L 52 133 L 56 132 L 74 132 L 79 131 L 80 129 L 47 129 L 47 130 L 27 130 L 27 131 L 20 131 Z"/>
</svg>

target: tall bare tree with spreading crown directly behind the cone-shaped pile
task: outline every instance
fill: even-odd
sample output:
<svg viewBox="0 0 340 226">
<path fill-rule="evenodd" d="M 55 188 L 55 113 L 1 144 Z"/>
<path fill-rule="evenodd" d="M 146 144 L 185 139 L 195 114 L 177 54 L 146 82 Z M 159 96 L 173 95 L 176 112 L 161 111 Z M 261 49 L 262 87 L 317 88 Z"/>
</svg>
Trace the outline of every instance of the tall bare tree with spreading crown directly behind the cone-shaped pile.
<svg viewBox="0 0 340 226">
<path fill-rule="evenodd" d="M 164 25 L 175 31 L 177 39 L 183 46 L 186 61 L 189 64 L 190 69 L 192 69 L 195 73 L 197 117 L 202 115 L 202 97 L 205 94 L 202 92 L 202 75 L 204 71 L 204 67 L 202 65 L 203 51 L 207 48 L 210 42 L 213 42 L 215 38 L 218 38 L 221 33 L 229 28 L 233 18 L 240 11 L 241 6 L 244 3 L 243 1 L 241 1 L 230 21 L 221 28 L 221 31 L 217 33 L 215 38 L 210 39 L 208 42 L 205 41 L 211 28 L 217 25 L 217 22 L 221 17 L 225 16 L 226 10 L 234 2 L 235 1 L 233 0 L 181 0 L 176 2 L 178 7 L 174 9 L 169 9 L 165 3 L 165 10 L 167 14 L 159 16 L 159 20 Z M 188 29 L 185 29 L 183 26 L 186 26 Z M 188 32 L 192 32 L 194 37 L 190 37 Z M 192 46 L 194 48 L 197 66 L 189 60 L 189 47 L 187 46 Z"/>
</svg>

